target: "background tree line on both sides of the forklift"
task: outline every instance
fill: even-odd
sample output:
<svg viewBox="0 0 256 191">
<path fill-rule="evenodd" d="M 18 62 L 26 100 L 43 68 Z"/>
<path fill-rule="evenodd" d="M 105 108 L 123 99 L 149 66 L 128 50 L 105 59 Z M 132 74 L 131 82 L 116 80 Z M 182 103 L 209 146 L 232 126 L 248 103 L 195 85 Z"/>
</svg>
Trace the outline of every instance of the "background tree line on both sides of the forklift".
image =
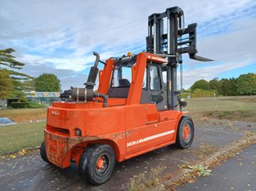
<svg viewBox="0 0 256 191">
<path fill-rule="evenodd" d="M 13 48 L 0 50 L 0 99 L 18 98 L 24 99 L 25 91 L 60 91 L 60 80 L 55 74 L 43 73 L 38 77 L 32 77 L 18 72 L 25 65 L 15 60 Z M 256 74 L 247 73 L 238 78 L 224 78 L 198 80 L 193 83 L 190 90 L 183 92 L 193 93 L 195 90 L 215 90 L 217 94 L 224 96 L 255 95 Z"/>
</svg>

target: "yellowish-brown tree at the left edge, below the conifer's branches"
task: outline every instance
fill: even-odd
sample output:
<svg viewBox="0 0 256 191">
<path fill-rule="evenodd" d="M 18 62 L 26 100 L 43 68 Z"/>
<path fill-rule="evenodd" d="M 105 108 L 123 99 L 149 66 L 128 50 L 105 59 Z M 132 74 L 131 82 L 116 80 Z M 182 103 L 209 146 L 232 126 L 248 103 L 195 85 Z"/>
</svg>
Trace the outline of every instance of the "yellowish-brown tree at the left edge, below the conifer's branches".
<svg viewBox="0 0 256 191">
<path fill-rule="evenodd" d="M 7 69 L 0 69 L 0 99 L 5 100 L 11 97 L 13 91 L 12 79 Z"/>
</svg>

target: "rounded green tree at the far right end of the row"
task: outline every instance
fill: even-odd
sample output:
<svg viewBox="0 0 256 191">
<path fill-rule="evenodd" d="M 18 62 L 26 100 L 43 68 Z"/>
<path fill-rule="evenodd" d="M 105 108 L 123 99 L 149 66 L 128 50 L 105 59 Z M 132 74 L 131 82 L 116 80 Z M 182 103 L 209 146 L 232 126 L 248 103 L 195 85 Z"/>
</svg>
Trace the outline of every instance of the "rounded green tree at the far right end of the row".
<svg viewBox="0 0 256 191">
<path fill-rule="evenodd" d="M 237 80 L 237 92 L 240 95 L 256 94 L 256 74 L 247 73 L 240 75 Z"/>
</svg>

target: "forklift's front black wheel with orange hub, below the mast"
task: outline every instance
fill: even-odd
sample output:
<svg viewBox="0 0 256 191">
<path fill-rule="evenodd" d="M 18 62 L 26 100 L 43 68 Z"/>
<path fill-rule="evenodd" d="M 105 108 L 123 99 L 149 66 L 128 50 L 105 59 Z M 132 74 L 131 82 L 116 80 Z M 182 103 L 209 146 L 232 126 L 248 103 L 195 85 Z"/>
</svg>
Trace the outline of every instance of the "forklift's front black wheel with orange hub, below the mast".
<svg viewBox="0 0 256 191">
<path fill-rule="evenodd" d="M 178 130 L 176 135 L 176 146 L 181 149 L 187 149 L 193 143 L 194 124 L 192 118 L 182 116 L 178 122 Z"/>
</svg>

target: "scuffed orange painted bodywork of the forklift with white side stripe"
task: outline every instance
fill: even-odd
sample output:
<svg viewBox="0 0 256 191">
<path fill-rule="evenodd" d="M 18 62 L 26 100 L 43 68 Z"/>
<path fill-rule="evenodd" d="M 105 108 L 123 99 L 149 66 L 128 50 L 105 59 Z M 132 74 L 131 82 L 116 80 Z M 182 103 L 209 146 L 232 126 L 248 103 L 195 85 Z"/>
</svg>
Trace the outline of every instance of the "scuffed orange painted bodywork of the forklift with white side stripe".
<svg viewBox="0 0 256 191">
<path fill-rule="evenodd" d="M 78 164 L 88 144 L 106 143 L 114 148 L 117 161 L 124 161 L 147 151 L 175 143 L 181 111 L 157 111 L 155 104 L 140 104 L 142 80 L 148 59 L 166 62 L 164 58 L 140 53 L 132 71 L 128 98 L 108 98 L 103 108 L 96 101 L 55 102 L 48 108 L 45 148 L 52 164 L 60 168 Z M 99 93 L 107 94 L 114 60 L 106 60 L 99 71 Z M 76 130 L 81 130 L 81 136 Z"/>
</svg>

